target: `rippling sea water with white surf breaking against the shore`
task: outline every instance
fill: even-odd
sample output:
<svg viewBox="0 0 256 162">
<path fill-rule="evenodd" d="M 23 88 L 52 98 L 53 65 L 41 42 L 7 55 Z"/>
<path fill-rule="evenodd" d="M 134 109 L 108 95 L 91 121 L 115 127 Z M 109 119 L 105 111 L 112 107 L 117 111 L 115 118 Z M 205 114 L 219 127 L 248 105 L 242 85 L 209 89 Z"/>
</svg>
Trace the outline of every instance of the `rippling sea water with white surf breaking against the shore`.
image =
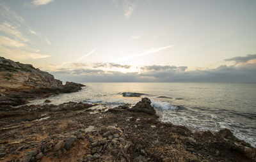
<svg viewBox="0 0 256 162">
<path fill-rule="evenodd" d="M 60 94 L 49 99 L 53 104 L 82 101 L 113 108 L 125 103 L 135 104 L 147 97 L 163 122 L 187 126 L 193 131 L 216 132 L 228 128 L 237 138 L 256 146 L 255 83 L 83 84 L 87 86 L 79 92 Z M 44 104 L 44 100 L 31 101 L 29 104 Z"/>
</svg>

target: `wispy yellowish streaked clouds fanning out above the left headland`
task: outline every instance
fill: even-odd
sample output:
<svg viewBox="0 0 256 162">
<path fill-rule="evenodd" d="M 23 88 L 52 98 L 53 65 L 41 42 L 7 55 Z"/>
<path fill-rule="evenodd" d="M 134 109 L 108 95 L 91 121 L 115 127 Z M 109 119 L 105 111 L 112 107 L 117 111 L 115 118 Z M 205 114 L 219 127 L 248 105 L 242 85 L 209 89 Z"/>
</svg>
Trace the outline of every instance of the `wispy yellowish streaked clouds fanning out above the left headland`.
<svg viewBox="0 0 256 162">
<path fill-rule="evenodd" d="M 26 59 L 42 59 L 51 55 L 38 54 L 40 50 L 35 49 L 31 45 L 31 40 L 28 36 L 35 35 L 41 40 L 46 41 L 49 45 L 51 42 L 36 32 L 35 29 L 12 11 L 5 3 L 0 2 L 0 19 L 3 20 L 0 24 L 0 54 L 1 56 L 23 61 Z M 33 51 L 33 52 L 32 52 Z"/>
</svg>

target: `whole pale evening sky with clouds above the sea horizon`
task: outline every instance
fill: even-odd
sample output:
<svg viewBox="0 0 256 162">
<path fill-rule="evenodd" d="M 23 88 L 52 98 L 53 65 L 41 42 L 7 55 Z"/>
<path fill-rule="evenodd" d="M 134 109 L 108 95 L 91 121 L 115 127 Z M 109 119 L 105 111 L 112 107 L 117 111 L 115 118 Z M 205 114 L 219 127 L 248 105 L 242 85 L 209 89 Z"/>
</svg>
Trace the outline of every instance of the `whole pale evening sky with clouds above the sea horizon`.
<svg viewBox="0 0 256 162">
<path fill-rule="evenodd" d="M 255 0 L 2 0 L 0 55 L 74 82 L 256 82 Z"/>
</svg>

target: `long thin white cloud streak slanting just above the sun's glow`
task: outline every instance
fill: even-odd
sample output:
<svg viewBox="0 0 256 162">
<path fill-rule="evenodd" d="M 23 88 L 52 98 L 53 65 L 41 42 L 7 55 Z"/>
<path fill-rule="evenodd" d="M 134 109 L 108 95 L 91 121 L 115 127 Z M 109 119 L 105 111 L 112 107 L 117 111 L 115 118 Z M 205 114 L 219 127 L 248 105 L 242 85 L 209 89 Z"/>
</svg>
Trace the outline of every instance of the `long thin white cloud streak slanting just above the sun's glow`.
<svg viewBox="0 0 256 162">
<path fill-rule="evenodd" d="M 127 55 L 125 57 L 121 57 L 119 61 L 127 61 L 129 59 L 134 59 L 136 57 L 140 57 L 140 56 L 143 56 L 143 55 L 149 55 L 149 54 L 155 54 L 156 52 L 160 52 L 161 50 L 165 50 L 167 48 L 170 48 L 170 47 L 173 47 L 174 45 L 168 45 L 166 47 L 158 47 L 158 48 L 151 48 L 149 50 L 145 50 L 143 52 L 141 52 L 140 54 L 131 54 L 131 55 Z"/>
</svg>

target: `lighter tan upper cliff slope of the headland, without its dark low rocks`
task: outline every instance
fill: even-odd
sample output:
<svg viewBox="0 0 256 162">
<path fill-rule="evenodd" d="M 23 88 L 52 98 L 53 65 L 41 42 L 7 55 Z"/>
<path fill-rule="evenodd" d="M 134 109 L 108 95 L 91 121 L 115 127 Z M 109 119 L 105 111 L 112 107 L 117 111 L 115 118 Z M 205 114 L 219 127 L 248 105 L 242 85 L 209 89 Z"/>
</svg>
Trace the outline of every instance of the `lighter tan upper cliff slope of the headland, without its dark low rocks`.
<svg viewBox="0 0 256 162">
<path fill-rule="evenodd" d="M 23 91 L 35 87 L 58 87 L 62 85 L 53 75 L 34 68 L 31 64 L 22 64 L 0 57 L 0 95 L 6 92 Z"/>
</svg>

